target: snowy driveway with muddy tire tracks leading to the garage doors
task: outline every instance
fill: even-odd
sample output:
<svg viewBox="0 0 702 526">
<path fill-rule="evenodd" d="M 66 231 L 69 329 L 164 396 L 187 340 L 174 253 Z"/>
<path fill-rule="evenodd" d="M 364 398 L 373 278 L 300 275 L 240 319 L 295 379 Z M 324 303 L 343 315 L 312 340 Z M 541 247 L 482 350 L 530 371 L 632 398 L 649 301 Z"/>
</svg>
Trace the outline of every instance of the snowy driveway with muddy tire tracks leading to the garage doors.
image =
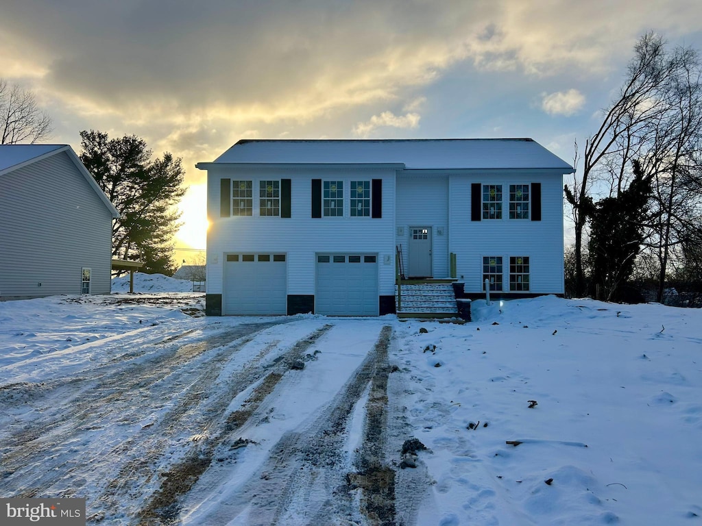
<svg viewBox="0 0 702 526">
<path fill-rule="evenodd" d="M 393 520 L 388 321 L 171 316 L 15 349 L 0 494 L 87 497 L 100 524 Z"/>
</svg>

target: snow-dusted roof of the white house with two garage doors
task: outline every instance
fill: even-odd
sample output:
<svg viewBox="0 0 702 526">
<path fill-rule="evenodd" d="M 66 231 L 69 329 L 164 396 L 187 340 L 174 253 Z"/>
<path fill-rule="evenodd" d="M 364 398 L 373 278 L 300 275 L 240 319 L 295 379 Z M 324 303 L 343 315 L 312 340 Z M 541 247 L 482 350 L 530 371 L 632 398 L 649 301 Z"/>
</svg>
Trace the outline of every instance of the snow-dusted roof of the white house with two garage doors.
<svg viewBox="0 0 702 526">
<path fill-rule="evenodd" d="M 407 170 L 573 168 L 532 139 L 240 140 L 211 164 L 400 164 Z"/>
</svg>

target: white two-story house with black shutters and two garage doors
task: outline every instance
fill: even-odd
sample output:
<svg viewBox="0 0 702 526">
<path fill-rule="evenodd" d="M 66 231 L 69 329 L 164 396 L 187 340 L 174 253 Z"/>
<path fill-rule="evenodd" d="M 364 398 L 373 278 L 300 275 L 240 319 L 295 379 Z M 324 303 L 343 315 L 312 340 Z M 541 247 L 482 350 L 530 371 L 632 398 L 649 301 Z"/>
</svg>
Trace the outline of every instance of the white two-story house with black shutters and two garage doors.
<svg viewBox="0 0 702 526">
<path fill-rule="evenodd" d="M 534 140 L 241 140 L 197 168 L 208 314 L 395 312 L 397 248 L 466 297 L 564 292 L 573 168 Z"/>
</svg>

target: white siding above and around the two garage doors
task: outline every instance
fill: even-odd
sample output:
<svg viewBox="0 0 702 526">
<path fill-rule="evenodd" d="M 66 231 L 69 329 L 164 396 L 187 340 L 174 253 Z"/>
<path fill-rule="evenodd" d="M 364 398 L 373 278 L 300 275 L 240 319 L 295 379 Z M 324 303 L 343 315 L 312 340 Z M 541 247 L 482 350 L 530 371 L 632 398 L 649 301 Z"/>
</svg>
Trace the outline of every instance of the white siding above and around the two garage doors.
<svg viewBox="0 0 702 526">
<path fill-rule="evenodd" d="M 291 180 L 291 217 L 220 217 L 220 179 L 246 173 L 261 180 Z M 241 174 L 241 175 L 239 175 Z M 383 180 L 383 217 L 312 218 L 312 180 Z M 345 186 L 345 185 L 344 185 Z M 378 255 L 378 294 L 395 293 L 395 170 L 383 168 L 208 168 L 207 292 L 221 294 L 227 252 L 280 250 L 287 257 L 287 293 L 314 295 L 315 254 Z M 254 203 L 256 206 L 256 203 Z M 385 263 L 387 257 L 387 264 Z"/>
</svg>

